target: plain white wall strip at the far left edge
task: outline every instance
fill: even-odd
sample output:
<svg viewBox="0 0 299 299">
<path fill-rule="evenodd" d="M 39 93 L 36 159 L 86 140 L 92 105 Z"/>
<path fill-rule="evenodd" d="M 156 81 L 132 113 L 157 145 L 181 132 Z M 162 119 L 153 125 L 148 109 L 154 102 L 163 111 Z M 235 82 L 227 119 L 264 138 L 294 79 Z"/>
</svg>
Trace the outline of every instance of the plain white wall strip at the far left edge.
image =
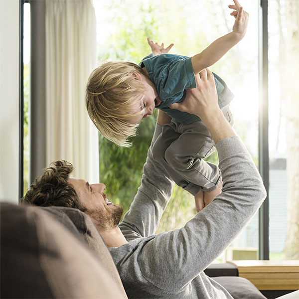
<svg viewBox="0 0 299 299">
<path fill-rule="evenodd" d="M 0 200 L 18 202 L 19 0 L 0 0 Z"/>
</svg>

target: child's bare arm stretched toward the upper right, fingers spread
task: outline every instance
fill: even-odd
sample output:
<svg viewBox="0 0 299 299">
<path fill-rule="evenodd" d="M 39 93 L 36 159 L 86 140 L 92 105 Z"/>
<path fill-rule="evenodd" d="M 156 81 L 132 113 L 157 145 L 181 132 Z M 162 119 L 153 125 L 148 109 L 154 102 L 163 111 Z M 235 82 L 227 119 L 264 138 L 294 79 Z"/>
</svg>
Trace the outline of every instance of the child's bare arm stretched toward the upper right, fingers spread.
<svg viewBox="0 0 299 299">
<path fill-rule="evenodd" d="M 226 54 L 234 45 L 236 45 L 245 35 L 249 14 L 240 5 L 238 0 L 233 0 L 235 5 L 228 5 L 234 9 L 231 15 L 235 17 L 235 24 L 232 32 L 216 39 L 201 53 L 191 58 L 194 75 L 197 75 L 203 69 L 213 65 L 224 54 Z"/>
</svg>

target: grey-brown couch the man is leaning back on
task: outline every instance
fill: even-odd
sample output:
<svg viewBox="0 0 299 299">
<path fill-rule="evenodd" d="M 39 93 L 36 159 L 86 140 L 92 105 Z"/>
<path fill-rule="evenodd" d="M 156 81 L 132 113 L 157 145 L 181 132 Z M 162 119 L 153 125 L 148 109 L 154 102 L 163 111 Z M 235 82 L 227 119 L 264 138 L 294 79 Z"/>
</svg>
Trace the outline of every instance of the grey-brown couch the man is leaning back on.
<svg viewBox="0 0 299 299">
<path fill-rule="evenodd" d="M 2 202 L 0 229 L 0 298 L 128 298 L 85 213 Z M 211 265 L 205 273 L 234 299 L 266 299 L 233 266 Z"/>
</svg>

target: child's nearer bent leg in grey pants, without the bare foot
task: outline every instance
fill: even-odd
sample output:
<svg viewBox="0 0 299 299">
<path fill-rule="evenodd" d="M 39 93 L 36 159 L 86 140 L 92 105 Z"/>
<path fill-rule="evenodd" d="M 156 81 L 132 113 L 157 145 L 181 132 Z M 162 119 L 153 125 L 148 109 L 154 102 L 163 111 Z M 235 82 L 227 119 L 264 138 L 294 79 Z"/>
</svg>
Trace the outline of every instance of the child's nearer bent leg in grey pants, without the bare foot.
<svg viewBox="0 0 299 299">
<path fill-rule="evenodd" d="M 179 175 L 176 183 L 192 195 L 201 188 L 205 192 L 216 189 L 221 181 L 218 166 L 203 160 L 215 145 L 206 126 L 202 122 L 177 123 L 177 132 L 179 137 L 165 151 L 165 161 Z"/>
</svg>

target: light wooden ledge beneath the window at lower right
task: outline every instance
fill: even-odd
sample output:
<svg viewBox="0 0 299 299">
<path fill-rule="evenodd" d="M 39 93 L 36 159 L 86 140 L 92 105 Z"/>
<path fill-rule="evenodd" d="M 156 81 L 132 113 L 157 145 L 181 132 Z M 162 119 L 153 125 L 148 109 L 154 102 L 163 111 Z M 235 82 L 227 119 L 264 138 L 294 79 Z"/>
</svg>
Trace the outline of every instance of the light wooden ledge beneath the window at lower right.
<svg viewBox="0 0 299 299">
<path fill-rule="evenodd" d="M 259 290 L 299 290 L 299 260 L 228 261 L 238 267 L 239 276 Z"/>
</svg>

